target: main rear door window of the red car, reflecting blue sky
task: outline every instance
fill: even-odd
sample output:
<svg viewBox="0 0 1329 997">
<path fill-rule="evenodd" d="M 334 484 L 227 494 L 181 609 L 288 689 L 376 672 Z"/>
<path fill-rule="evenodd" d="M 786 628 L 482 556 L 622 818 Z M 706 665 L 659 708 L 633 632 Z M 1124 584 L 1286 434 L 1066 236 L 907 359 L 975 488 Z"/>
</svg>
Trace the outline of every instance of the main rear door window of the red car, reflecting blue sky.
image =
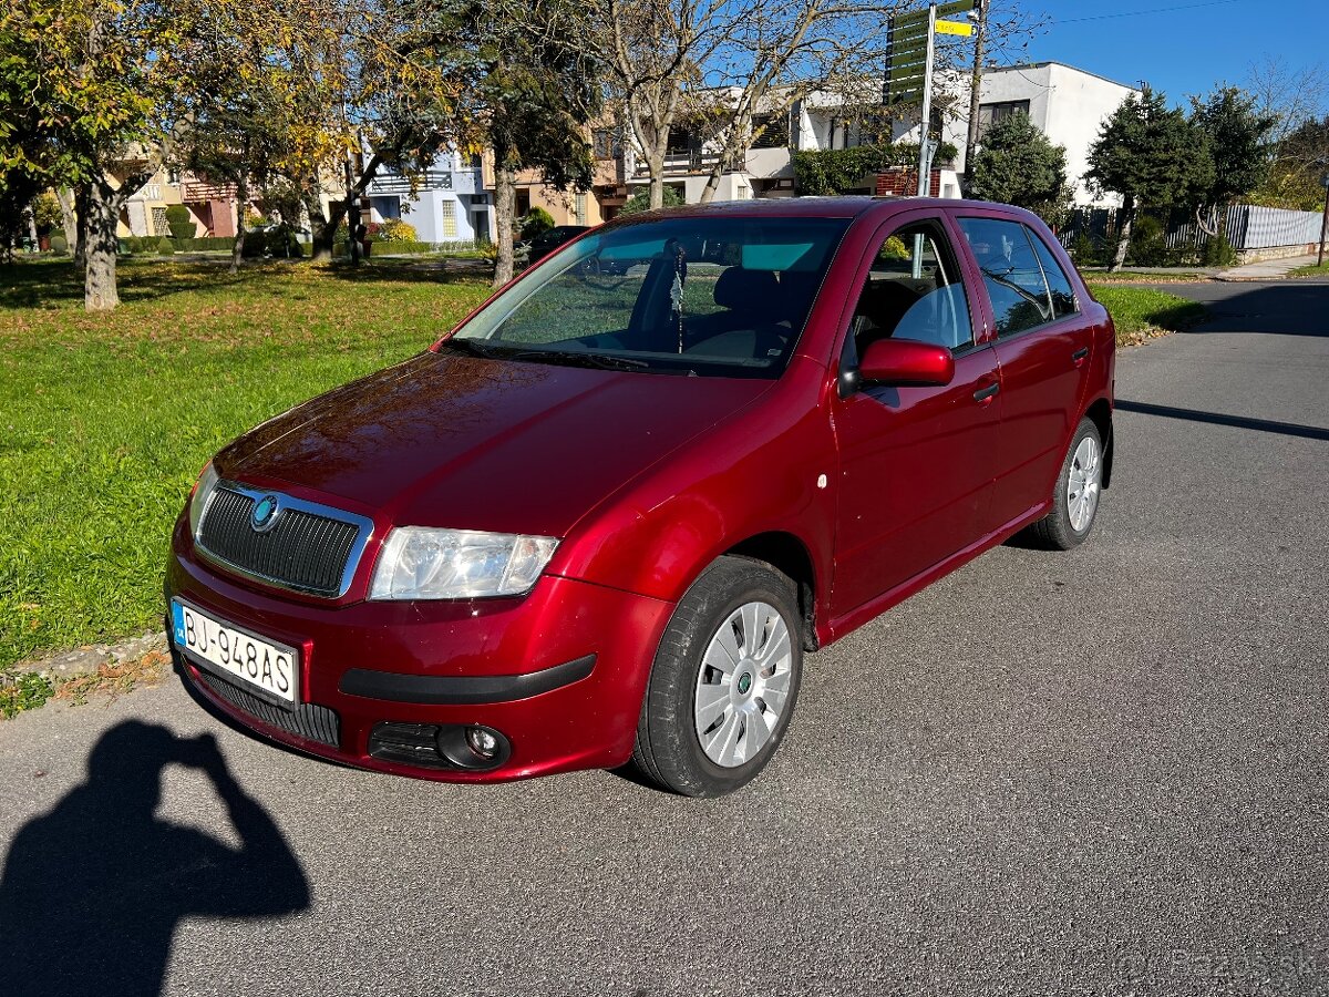
<svg viewBox="0 0 1329 997">
<path fill-rule="evenodd" d="M 1053 320 L 1053 302 L 1029 233 L 1019 222 L 960 218 L 961 231 L 983 274 L 998 336 L 1013 336 Z"/>
</svg>

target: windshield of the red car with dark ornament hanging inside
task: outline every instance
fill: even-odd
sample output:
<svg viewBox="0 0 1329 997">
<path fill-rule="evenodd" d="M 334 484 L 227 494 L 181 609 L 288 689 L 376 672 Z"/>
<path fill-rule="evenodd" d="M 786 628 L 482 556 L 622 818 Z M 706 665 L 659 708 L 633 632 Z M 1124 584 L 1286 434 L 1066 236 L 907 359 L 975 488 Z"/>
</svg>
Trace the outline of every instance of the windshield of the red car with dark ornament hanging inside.
<svg viewBox="0 0 1329 997">
<path fill-rule="evenodd" d="M 657 374 L 775 378 L 848 226 L 662 218 L 575 242 L 440 348 Z"/>
</svg>

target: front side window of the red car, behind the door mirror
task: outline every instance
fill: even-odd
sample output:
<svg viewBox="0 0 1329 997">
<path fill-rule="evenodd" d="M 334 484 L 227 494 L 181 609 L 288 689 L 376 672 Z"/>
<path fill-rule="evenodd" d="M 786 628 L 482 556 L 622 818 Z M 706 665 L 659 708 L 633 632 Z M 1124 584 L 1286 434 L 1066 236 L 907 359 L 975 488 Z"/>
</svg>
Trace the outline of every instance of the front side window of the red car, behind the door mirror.
<svg viewBox="0 0 1329 997">
<path fill-rule="evenodd" d="M 940 223 L 910 225 L 882 241 L 859 294 L 852 331 L 859 356 L 886 336 L 948 350 L 973 344 L 965 284 Z"/>
</svg>

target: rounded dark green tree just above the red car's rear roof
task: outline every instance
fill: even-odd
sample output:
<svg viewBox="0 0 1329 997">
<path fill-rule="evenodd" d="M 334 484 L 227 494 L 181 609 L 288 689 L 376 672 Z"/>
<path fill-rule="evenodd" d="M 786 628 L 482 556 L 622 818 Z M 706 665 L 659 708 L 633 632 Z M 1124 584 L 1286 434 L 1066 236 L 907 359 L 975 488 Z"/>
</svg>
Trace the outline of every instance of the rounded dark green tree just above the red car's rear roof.
<svg viewBox="0 0 1329 997">
<path fill-rule="evenodd" d="M 1053 145 L 1027 114 L 991 125 L 974 156 L 974 197 L 1027 207 L 1051 226 L 1070 210 L 1066 149 Z"/>
</svg>

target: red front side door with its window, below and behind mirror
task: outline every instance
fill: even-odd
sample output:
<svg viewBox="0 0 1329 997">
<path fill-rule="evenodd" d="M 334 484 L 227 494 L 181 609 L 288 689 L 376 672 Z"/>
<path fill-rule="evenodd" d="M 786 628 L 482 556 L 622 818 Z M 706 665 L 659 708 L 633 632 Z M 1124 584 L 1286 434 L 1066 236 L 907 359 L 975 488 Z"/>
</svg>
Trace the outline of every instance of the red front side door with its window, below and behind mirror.
<svg viewBox="0 0 1329 997">
<path fill-rule="evenodd" d="M 956 376 L 942 387 L 863 384 L 836 397 L 835 615 L 974 542 L 985 532 L 998 452 L 997 359 L 990 343 L 975 340 L 978 298 L 948 221 L 940 213 L 897 218 L 873 245 L 841 372 L 855 370 L 873 340 L 897 336 L 949 348 Z"/>
</svg>

